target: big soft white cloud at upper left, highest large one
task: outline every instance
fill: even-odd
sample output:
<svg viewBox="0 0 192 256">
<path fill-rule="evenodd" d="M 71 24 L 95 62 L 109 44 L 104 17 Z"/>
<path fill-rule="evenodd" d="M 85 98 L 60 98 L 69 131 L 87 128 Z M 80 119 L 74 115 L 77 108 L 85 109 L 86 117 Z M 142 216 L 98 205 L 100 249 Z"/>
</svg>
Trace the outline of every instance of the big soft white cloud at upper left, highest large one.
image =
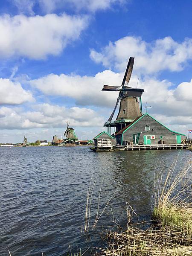
<svg viewBox="0 0 192 256">
<path fill-rule="evenodd" d="M 87 27 L 86 16 L 0 16 L 0 57 L 44 59 L 58 55 Z"/>
</svg>

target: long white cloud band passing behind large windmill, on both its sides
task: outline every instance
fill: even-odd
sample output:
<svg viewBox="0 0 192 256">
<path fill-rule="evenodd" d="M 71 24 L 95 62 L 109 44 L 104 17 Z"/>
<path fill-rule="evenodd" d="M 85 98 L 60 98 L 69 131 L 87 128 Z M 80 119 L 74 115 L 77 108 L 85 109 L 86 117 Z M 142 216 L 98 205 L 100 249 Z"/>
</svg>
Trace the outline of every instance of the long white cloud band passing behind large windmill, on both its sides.
<svg viewBox="0 0 192 256">
<path fill-rule="evenodd" d="M 76 104 L 81 106 L 95 105 L 100 113 L 110 116 L 118 93 L 101 91 L 102 85 L 120 85 L 122 78 L 123 73 L 105 70 L 93 77 L 51 74 L 32 80 L 30 83 L 46 95 L 68 96 L 75 99 Z M 137 79 L 137 76 L 131 77 L 131 87 L 136 87 Z M 176 125 L 177 123 L 179 125 L 182 119 L 185 120 L 183 123 L 191 123 L 189 116 L 191 116 L 192 109 L 192 82 L 174 85 L 168 80 L 160 81 L 154 77 L 145 77 L 143 79 L 140 78 L 139 87 L 144 89 L 142 97 L 143 112 L 145 111 L 145 102 L 147 102 L 148 105 L 152 106 L 149 113 L 157 117 L 166 116 L 162 120 L 168 126 Z M 103 106 L 108 108 L 108 110 L 105 109 L 105 113 L 101 112 Z"/>
</svg>

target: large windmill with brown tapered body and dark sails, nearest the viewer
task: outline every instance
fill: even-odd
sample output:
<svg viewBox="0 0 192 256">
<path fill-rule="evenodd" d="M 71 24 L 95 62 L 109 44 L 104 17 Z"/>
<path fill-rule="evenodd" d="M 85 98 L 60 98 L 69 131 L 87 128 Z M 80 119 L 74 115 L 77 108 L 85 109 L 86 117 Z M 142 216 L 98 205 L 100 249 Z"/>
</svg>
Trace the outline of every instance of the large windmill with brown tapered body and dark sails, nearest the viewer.
<svg viewBox="0 0 192 256">
<path fill-rule="evenodd" d="M 128 61 L 128 65 L 125 71 L 125 75 L 120 86 L 109 86 L 104 85 L 102 90 L 104 91 L 119 91 L 119 95 L 117 97 L 115 108 L 111 113 L 108 121 L 105 122 L 104 126 L 108 127 L 108 133 L 111 134 L 111 127 L 115 131 L 120 131 L 130 122 L 133 122 L 138 116 L 142 115 L 142 102 L 141 96 L 143 94 L 143 89 L 137 89 L 129 87 L 129 81 L 131 78 L 131 73 L 134 66 L 134 58 L 130 57 Z M 112 121 L 116 108 L 119 104 L 120 107 L 119 113 L 116 117 L 115 121 Z"/>
</svg>

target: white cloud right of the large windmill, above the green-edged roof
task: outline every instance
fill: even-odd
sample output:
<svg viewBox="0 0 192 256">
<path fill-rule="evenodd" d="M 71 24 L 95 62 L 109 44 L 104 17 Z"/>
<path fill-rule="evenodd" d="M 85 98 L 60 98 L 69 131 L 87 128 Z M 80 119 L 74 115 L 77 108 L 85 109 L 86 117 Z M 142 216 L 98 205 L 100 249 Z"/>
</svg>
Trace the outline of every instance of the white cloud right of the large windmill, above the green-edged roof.
<svg viewBox="0 0 192 256">
<path fill-rule="evenodd" d="M 182 84 L 187 84 L 187 86 L 183 87 Z M 183 116 L 184 120 L 187 116 L 191 116 L 192 97 L 191 100 L 187 101 L 186 99 L 188 97 L 187 94 L 190 97 L 192 83 L 181 83 L 175 89 L 172 89 L 172 85 L 167 80 L 158 81 L 157 79 L 149 78 L 140 81 L 139 87 L 144 89 L 143 102 L 148 102 L 148 105 L 152 106 L 151 113 L 163 114 L 164 116 L 172 117 L 172 120 Z M 183 97 L 181 97 L 181 91 Z"/>
</svg>

